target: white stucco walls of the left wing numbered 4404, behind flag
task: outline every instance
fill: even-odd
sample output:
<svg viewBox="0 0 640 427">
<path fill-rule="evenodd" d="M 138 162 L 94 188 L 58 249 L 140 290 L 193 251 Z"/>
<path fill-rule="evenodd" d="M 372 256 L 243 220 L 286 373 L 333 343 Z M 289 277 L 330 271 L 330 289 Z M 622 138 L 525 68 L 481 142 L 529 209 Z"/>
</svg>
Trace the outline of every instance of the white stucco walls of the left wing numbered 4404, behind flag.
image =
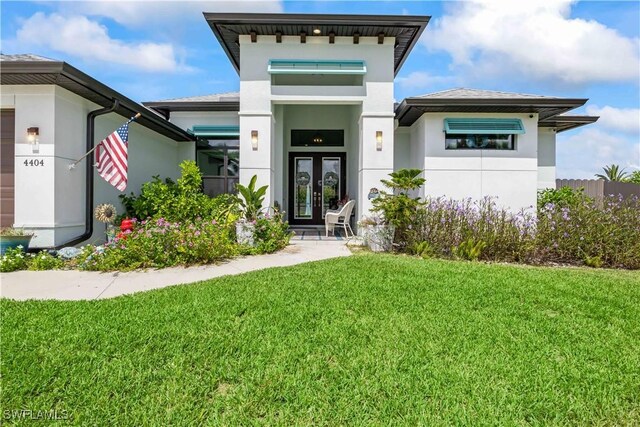
<svg viewBox="0 0 640 427">
<path fill-rule="evenodd" d="M 36 232 L 34 247 L 50 247 L 84 231 L 85 163 L 69 165 L 85 152 L 86 116 L 100 108 L 54 85 L 2 86 L 2 108 L 16 115 L 15 226 Z M 96 142 L 121 126 L 127 118 L 116 114 L 96 118 Z M 39 150 L 26 143 L 26 129 L 40 130 Z M 138 192 L 142 183 L 159 174 L 177 178 L 184 146 L 138 124 L 129 127 L 129 186 Z M 192 144 L 185 144 L 191 145 Z M 193 155 L 191 155 L 191 158 Z M 43 166 L 24 161 L 43 160 Z M 115 188 L 95 175 L 94 206 L 110 202 L 119 207 Z M 102 224 L 94 224 L 94 238 L 104 238 Z"/>
</svg>

